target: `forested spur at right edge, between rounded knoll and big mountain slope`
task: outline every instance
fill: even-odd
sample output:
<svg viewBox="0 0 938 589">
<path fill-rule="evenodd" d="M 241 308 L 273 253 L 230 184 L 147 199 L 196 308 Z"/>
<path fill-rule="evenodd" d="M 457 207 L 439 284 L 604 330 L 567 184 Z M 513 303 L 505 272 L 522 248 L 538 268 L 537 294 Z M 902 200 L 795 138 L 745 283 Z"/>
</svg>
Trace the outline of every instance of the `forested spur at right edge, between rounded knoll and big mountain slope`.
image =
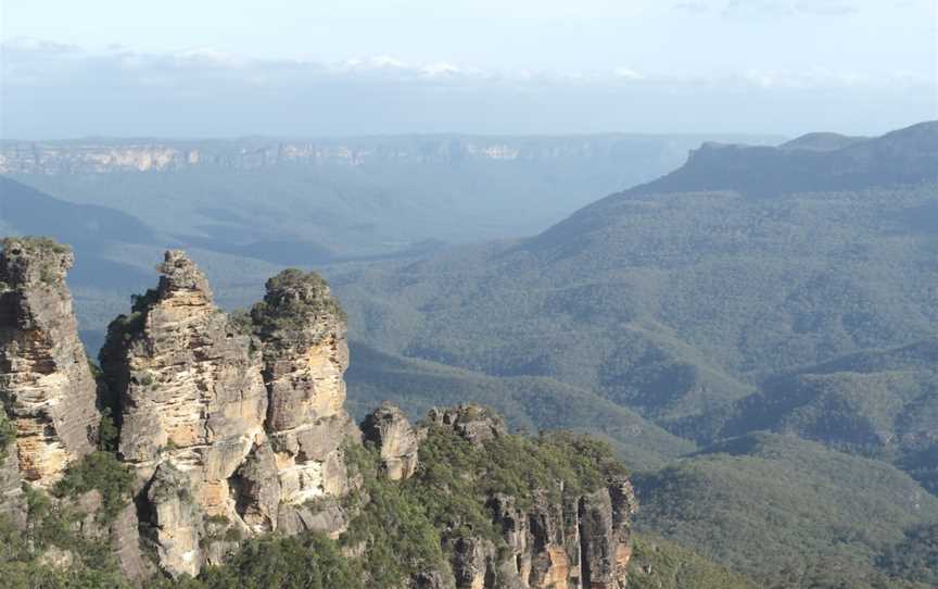
<svg viewBox="0 0 938 589">
<path fill-rule="evenodd" d="M 938 343 L 871 350 L 799 368 L 751 397 L 687 419 L 701 441 L 771 429 L 893 463 L 938 491 Z"/>
</svg>

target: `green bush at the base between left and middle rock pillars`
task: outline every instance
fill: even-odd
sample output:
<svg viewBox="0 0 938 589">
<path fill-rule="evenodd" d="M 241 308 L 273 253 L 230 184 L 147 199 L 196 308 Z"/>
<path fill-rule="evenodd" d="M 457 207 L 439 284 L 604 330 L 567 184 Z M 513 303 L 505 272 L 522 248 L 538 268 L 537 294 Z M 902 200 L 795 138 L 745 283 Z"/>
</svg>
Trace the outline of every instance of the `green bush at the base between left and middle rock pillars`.
<svg viewBox="0 0 938 589">
<path fill-rule="evenodd" d="M 116 455 L 99 450 L 69 465 L 52 493 L 56 497 L 77 497 L 97 490 L 103 503 L 101 517 L 110 522 L 129 503 L 132 484 L 130 468 Z"/>
</svg>

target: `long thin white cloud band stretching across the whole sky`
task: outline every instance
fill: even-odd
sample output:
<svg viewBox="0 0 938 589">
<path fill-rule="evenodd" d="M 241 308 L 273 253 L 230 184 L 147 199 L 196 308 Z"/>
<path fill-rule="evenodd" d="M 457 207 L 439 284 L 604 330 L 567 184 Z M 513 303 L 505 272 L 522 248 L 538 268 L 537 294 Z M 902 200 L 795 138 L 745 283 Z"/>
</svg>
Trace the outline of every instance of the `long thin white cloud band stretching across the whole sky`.
<svg viewBox="0 0 938 589">
<path fill-rule="evenodd" d="M 214 88 L 213 83 L 245 84 L 252 87 L 290 88 L 318 84 L 408 83 L 483 86 L 596 86 L 620 87 L 697 85 L 726 87 L 821 88 L 888 86 L 892 84 L 935 86 L 930 72 L 903 71 L 873 74 L 862 71 L 749 68 L 746 71 L 645 72 L 631 66 L 612 70 L 548 71 L 485 70 L 448 61 L 409 63 L 393 55 L 371 55 L 337 63 L 310 60 L 257 60 L 194 48 L 170 54 L 140 53 L 123 47 L 89 52 L 74 46 L 17 39 L 0 45 L 2 75 L 8 86 L 53 86 L 65 82 L 103 83 L 107 86 Z"/>
</svg>

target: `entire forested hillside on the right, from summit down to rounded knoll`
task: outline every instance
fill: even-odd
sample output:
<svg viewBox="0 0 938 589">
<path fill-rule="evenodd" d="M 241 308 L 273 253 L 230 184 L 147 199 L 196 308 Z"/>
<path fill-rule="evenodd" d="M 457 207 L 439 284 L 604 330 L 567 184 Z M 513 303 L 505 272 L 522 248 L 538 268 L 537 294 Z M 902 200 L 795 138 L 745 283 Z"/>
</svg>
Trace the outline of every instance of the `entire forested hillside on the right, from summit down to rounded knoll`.
<svg viewBox="0 0 938 589">
<path fill-rule="evenodd" d="M 922 587 L 927 553 L 896 547 L 935 517 L 936 138 L 707 146 L 535 237 L 333 284 L 389 358 L 563 383 L 590 391 L 578 413 L 612 403 L 709 447 L 641 474 L 645 531 L 759 586 Z M 395 399 L 462 390 L 411 388 Z M 536 415 L 537 393 L 502 397 Z"/>
</svg>

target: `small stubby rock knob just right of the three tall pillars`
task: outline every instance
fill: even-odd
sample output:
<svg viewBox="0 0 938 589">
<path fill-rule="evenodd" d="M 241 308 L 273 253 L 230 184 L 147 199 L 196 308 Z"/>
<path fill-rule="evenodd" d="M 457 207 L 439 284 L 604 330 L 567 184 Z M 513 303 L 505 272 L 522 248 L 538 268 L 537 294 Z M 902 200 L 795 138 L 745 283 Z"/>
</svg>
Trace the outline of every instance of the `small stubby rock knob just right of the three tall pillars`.
<svg viewBox="0 0 938 589">
<path fill-rule="evenodd" d="M 417 471 L 417 433 L 400 409 L 381 405 L 365 417 L 362 434 L 379 449 L 388 478 L 401 480 Z"/>
</svg>

